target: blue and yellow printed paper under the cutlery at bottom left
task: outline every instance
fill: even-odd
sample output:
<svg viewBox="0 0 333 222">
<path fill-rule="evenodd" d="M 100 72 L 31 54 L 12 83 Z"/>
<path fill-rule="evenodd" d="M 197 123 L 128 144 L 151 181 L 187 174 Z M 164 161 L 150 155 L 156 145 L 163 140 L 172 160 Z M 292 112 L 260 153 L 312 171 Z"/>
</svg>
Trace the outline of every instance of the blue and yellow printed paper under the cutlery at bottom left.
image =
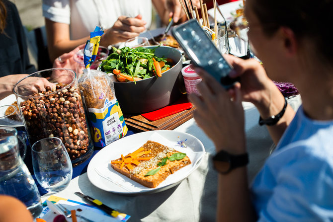
<svg viewBox="0 0 333 222">
<path fill-rule="evenodd" d="M 122 215 L 124 215 L 123 219 L 122 220 L 118 220 L 118 219 L 112 218 L 110 215 L 106 214 L 104 211 L 98 209 L 95 206 L 92 206 L 92 205 L 89 205 L 89 204 L 84 204 L 84 203 L 73 201 L 73 200 L 69 200 L 69 199 L 66 199 L 66 198 L 57 197 L 57 196 L 54 196 L 54 195 L 51 195 L 47 200 L 51 201 L 54 204 L 56 204 L 56 203 L 59 202 L 62 205 L 65 205 L 65 207 L 68 208 L 69 210 L 75 210 L 75 209 L 77 209 L 79 207 L 81 210 L 86 211 L 83 214 L 87 214 L 87 213 L 93 214 L 95 216 L 96 221 L 98 219 L 100 221 L 105 221 L 106 220 L 106 221 L 118 221 L 118 222 L 121 221 L 121 222 L 126 222 L 130 218 L 129 215 L 122 214 Z M 77 211 L 77 213 L 81 214 L 81 213 L 79 213 L 79 211 Z M 56 215 L 54 213 L 52 213 L 50 211 L 50 209 L 47 207 L 47 204 L 46 204 L 46 201 L 45 201 L 43 203 L 43 212 L 40 215 L 40 218 L 42 218 L 44 220 L 48 219 L 48 220 L 46 220 L 47 222 L 49 222 L 49 221 L 52 222 L 53 218 L 55 216 Z M 82 216 L 85 217 L 86 215 L 82 215 Z M 89 215 L 87 215 L 87 218 L 89 219 Z"/>
</svg>

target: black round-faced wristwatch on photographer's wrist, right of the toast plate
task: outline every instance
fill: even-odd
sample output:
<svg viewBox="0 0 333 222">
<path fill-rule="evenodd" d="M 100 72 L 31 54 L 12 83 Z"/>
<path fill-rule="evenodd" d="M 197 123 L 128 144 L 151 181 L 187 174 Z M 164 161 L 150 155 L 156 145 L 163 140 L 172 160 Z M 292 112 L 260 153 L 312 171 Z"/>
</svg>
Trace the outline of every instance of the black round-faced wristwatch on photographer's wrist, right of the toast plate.
<svg viewBox="0 0 333 222">
<path fill-rule="evenodd" d="M 229 152 L 221 150 L 213 156 L 214 168 L 222 174 L 227 174 L 237 167 L 246 166 L 248 163 L 248 153 L 233 155 Z"/>
</svg>

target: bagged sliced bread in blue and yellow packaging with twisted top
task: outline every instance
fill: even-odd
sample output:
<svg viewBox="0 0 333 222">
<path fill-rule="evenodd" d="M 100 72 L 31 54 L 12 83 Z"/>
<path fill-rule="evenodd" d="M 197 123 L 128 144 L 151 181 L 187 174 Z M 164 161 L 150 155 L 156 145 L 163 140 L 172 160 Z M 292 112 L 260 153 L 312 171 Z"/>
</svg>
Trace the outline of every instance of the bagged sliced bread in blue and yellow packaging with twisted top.
<svg viewBox="0 0 333 222">
<path fill-rule="evenodd" d="M 88 125 L 94 146 L 103 148 L 124 137 L 128 129 L 115 96 L 113 80 L 101 71 L 89 69 L 96 58 L 99 39 L 100 30 L 96 32 L 95 29 L 84 47 L 86 69 L 79 79 L 79 86 L 87 108 Z"/>
</svg>

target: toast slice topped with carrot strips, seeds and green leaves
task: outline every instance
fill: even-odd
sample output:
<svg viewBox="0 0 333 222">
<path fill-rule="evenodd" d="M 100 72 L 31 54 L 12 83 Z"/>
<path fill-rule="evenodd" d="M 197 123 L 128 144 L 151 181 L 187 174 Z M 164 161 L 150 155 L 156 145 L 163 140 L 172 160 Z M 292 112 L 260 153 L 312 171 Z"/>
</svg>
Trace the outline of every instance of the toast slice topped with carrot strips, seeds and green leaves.
<svg viewBox="0 0 333 222">
<path fill-rule="evenodd" d="M 157 187 L 168 175 L 191 163 L 185 153 L 154 141 L 112 160 L 113 169 L 150 188 Z"/>
</svg>

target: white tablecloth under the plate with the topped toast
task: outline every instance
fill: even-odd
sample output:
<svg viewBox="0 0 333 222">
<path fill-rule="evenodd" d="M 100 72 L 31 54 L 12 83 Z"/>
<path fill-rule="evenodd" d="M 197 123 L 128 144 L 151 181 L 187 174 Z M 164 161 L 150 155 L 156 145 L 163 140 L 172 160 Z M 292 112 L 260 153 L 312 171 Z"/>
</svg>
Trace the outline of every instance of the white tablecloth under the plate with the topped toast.
<svg viewBox="0 0 333 222">
<path fill-rule="evenodd" d="M 300 97 L 289 99 L 288 102 L 296 109 Z M 247 148 L 250 154 L 249 181 L 262 166 L 269 155 L 273 142 L 266 127 L 258 125 L 259 114 L 250 103 L 243 103 L 246 118 Z M 74 194 L 80 191 L 102 201 L 104 204 L 131 216 L 130 221 L 157 222 L 157 221 L 215 221 L 217 203 L 217 173 L 212 168 L 210 157 L 215 153 L 212 141 L 191 119 L 175 131 L 189 133 L 197 137 L 204 145 L 206 154 L 197 170 L 179 185 L 155 194 L 140 196 L 121 196 L 109 193 L 93 186 L 84 173 L 74 178 L 63 191 L 54 194 L 59 197 L 83 202 Z M 45 201 L 50 194 L 42 197 Z"/>
</svg>

